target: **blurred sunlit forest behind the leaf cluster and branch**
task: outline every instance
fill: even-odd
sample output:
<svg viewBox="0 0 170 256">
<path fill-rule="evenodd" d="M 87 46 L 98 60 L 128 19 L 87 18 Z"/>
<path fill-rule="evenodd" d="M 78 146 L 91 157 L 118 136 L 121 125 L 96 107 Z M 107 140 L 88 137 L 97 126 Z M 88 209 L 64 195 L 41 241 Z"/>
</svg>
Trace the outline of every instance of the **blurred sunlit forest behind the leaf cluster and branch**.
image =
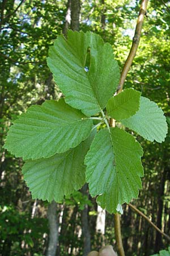
<svg viewBox="0 0 170 256">
<path fill-rule="evenodd" d="M 61 96 L 46 65 L 49 46 L 68 28 L 94 31 L 113 46 L 122 68 L 134 35 L 140 1 L 1 0 L 0 21 L 0 255 L 83 255 L 115 244 L 113 214 L 101 212 L 85 187 L 61 204 L 32 200 L 21 159 L 3 149 L 12 121 L 31 104 Z M 135 88 L 170 117 L 170 1 L 149 1 L 142 38 L 125 88 Z M 169 124 L 170 125 L 170 124 Z M 132 204 L 170 233 L 170 136 L 162 144 L 139 137 L 144 155 L 143 189 Z M 121 216 L 126 255 L 151 255 L 169 242 L 124 205 Z M 96 220 L 103 216 L 101 229 Z M 50 229 L 49 229 L 50 227 Z M 103 231 L 104 230 L 104 231 Z M 49 236 L 49 231 L 53 236 Z"/>
</svg>

